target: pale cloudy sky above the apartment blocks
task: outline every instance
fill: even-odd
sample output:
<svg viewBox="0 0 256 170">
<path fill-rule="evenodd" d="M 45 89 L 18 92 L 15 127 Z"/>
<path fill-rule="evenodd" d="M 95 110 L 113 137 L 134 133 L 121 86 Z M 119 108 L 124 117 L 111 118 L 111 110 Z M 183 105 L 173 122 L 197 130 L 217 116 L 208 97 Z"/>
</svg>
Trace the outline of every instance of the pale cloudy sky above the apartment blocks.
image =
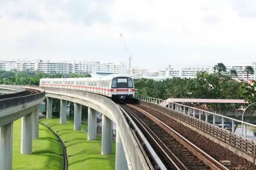
<svg viewBox="0 0 256 170">
<path fill-rule="evenodd" d="M 1 60 L 157 70 L 251 63 L 255 47 L 256 0 L 0 0 Z"/>
</svg>

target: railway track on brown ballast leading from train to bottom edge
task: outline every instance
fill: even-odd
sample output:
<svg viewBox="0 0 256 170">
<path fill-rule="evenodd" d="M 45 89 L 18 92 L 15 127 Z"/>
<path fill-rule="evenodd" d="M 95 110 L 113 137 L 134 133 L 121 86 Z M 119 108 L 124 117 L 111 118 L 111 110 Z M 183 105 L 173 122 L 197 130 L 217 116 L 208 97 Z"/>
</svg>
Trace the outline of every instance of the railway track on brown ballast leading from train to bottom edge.
<svg viewBox="0 0 256 170">
<path fill-rule="evenodd" d="M 122 107 L 144 129 L 168 170 L 229 170 L 148 112 L 130 104 Z"/>
</svg>

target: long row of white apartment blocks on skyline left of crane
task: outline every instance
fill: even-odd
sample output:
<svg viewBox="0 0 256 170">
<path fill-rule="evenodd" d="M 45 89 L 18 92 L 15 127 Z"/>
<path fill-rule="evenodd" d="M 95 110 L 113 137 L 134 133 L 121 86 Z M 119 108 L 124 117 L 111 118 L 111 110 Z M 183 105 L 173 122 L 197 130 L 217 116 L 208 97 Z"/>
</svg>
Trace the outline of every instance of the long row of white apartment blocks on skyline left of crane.
<svg viewBox="0 0 256 170">
<path fill-rule="evenodd" d="M 9 61 L 0 61 L 0 70 L 11 70 L 16 69 L 18 71 L 31 70 L 31 71 L 42 71 L 45 73 L 95 73 L 98 71 L 105 72 L 118 72 L 126 73 L 127 66 L 123 63 L 114 64 L 114 63 L 101 63 L 100 61 L 63 61 L 63 62 L 52 62 L 49 60 L 9 60 Z"/>
</svg>

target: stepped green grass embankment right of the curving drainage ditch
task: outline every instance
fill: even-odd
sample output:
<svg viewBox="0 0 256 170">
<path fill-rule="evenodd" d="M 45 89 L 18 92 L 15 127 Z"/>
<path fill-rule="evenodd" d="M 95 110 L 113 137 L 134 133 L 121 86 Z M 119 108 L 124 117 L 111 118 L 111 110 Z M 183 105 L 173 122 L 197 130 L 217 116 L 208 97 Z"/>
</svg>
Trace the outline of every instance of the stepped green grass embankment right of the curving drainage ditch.
<svg viewBox="0 0 256 170">
<path fill-rule="evenodd" d="M 82 130 L 73 131 L 73 120 L 67 119 L 67 123 L 61 125 L 59 119 L 41 119 L 48 124 L 64 140 L 68 158 L 69 170 L 114 170 L 115 169 L 115 142 L 113 153 L 101 155 L 101 136 L 94 141 L 87 141 L 87 133 Z M 87 129 L 87 125 L 82 125 Z"/>
</svg>

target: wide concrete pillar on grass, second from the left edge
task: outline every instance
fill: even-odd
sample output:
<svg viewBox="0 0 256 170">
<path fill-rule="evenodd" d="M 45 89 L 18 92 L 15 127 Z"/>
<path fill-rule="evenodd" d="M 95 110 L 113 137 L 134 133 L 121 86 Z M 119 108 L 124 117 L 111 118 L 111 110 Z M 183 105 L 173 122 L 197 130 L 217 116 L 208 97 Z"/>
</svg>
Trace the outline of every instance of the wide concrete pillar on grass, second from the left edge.
<svg viewBox="0 0 256 170">
<path fill-rule="evenodd" d="M 21 154 L 32 153 L 32 113 L 21 118 Z"/>
</svg>

